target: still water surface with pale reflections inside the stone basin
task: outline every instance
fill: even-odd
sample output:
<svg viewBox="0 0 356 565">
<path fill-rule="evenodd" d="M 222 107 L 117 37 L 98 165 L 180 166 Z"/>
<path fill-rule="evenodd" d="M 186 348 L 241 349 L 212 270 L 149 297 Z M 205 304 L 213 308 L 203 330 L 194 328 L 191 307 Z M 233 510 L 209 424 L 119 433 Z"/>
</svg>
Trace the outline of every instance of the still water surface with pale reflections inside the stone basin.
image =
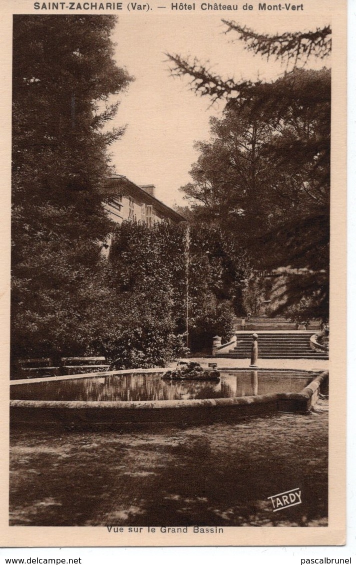
<svg viewBox="0 0 356 565">
<path fill-rule="evenodd" d="M 255 396 L 300 392 L 311 381 L 305 373 L 288 371 L 222 372 L 214 381 L 163 381 L 162 373 L 132 373 L 89 379 L 26 383 L 10 387 L 11 399 L 145 401 Z"/>
</svg>

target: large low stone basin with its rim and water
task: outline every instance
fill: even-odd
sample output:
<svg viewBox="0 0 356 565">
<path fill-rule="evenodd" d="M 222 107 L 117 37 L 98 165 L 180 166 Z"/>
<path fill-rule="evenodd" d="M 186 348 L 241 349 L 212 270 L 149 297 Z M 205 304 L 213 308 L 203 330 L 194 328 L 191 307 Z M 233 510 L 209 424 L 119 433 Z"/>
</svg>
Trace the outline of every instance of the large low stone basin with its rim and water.
<svg viewBox="0 0 356 565">
<path fill-rule="evenodd" d="M 220 381 L 162 380 L 166 370 L 11 381 L 12 424 L 194 423 L 307 412 L 328 372 L 221 370 Z"/>
</svg>

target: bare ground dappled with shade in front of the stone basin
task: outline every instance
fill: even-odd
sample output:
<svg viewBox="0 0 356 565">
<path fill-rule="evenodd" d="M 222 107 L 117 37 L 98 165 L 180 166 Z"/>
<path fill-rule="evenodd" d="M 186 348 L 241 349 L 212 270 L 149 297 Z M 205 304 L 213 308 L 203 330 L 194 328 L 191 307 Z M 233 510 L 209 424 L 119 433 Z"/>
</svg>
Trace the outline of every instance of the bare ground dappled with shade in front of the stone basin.
<svg viewBox="0 0 356 565">
<path fill-rule="evenodd" d="M 11 433 L 12 525 L 325 526 L 328 412 Z M 300 488 L 302 504 L 268 497 Z"/>
</svg>

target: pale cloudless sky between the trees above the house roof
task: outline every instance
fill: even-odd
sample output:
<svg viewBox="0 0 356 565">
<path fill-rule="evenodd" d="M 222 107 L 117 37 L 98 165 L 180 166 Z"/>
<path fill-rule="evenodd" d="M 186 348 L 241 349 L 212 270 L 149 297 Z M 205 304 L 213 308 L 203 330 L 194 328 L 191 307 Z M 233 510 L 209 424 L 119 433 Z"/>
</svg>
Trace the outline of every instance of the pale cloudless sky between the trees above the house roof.
<svg viewBox="0 0 356 565">
<path fill-rule="evenodd" d="M 237 12 L 167 8 L 119 18 L 113 36 L 115 59 L 136 80 L 120 95 L 119 111 L 111 123 L 127 124 L 124 136 L 110 148 L 112 163 L 133 182 L 154 184 L 156 197 L 170 206 L 184 204 L 179 188 L 191 181 L 189 170 L 198 156 L 194 142 L 209 140 L 209 118 L 221 116 L 224 103 L 210 107 L 208 97 L 197 97 L 189 90 L 188 78 L 171 77 L 164 53 L 197 56 L 223 77 L 272 79 L 284 73 L 285 64 L 268 63 L 244 50 L 240 41 L 232 43 L 236 35 L 223 33 L 222 18 L 235 19 L 260 33 L 305 31 L 332 20 L 331 14 L 321 14 L 320 9 L 313 13 L 307 6 L 293 16 L 291 12 L 258 12 L 257 6 L 254 12 L 240 11 L 238 16 Z M 330 62 L 325 59 L 322 64 Z M 310 66 L 322 64 L 312 61 Z"/>
</svg>

